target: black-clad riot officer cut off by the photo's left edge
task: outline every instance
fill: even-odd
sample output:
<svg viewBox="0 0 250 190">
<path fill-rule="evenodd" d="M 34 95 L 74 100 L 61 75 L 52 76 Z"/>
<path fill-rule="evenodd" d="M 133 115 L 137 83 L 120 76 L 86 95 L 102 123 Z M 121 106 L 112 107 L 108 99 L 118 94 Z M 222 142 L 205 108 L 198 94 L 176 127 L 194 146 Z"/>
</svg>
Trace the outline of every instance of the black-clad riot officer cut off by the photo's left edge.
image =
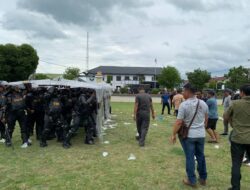
<svg viewBox="0 0 250 190">
<path fill-rule="evenodd" d="M 4 95 L 4 87 L 0 85 L 0 139 L 5 139 L 5 111 L 6 97 Z"/>
</svg>

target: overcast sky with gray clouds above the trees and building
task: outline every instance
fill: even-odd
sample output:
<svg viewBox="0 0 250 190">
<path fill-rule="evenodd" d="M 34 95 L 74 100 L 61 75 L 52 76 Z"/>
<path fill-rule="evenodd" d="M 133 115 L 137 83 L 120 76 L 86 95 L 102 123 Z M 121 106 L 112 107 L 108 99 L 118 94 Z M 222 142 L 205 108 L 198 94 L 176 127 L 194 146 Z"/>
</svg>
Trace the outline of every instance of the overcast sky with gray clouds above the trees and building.
<svg viewBox="0 0 250 190">
<path fill-rule="evenodd" d="M 250 67 L 249 0 L 0 1 L 0 43 L 29 43 L 37 72 L 99 65 L 172 65 L 214 76 Z"/>
</svg>

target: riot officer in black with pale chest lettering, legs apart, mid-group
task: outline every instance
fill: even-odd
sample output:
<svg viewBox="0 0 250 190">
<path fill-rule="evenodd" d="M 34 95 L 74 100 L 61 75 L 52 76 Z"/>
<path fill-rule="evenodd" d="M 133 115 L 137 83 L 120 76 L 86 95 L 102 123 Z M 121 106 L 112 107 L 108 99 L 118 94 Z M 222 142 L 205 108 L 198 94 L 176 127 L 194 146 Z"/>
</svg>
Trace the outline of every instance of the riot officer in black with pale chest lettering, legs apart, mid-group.
<svg viewBox="0 0 250 190">
<path fill-rule="evenodd" d="M 51 130 L 55 128 L 57 134 L 57 140 L 63 141 L 64 130 L 67 127 L 67 122 L 63 118 L 62 110 L 63 104 L 60 96 L 57 93 L 57 89 L 52 87 L 45 95 L 45 116 L 44 116 L 44 130 L 41 136 L 41 147 L 47 146 L 47 138 Z"/>
</svg>

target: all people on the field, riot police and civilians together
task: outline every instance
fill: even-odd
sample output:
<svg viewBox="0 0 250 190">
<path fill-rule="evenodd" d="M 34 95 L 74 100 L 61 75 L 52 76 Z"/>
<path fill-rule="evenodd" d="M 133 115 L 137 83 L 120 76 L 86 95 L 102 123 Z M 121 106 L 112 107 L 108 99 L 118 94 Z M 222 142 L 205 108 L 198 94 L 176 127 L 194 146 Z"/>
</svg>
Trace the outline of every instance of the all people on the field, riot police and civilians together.
<svg viewBox="0 0 250 190">
<path fill-rule="evenodd" d="M 171 142 L 177 137 L 186 157 L 187 178 L 185 185 L 197 187 L 197 181 L 206 185 L 207 165 L 204 154 L 206 132 L 210 136 L 208 143 L 219 143 L 216 132 L 219 120 L 218 102 L 214 91 L 206 95 L 198 92 L 191 84 L 173 93 L 164 92 L 162 114 L 165 107 L 168 114 L 174 110 L 177 120 L 173 127 Z M 232 157 L 232 188 L 240 189 L 240 168 L 242 163 L 250 163 L 250 85 L 244 85 L 240 94 L 232 95 L 229 89 L 224 90 L 222 136 L 233 130 L 229 139 Z M 47 141 L 57 138 L 64 148 L 71 147 L 71 139 L 80 127 L 85 128 L 85 143 L 92 145 L 97 137 L 96 116 L 98 103 L 96 92 L 86 88 L 68 88 L 44 86 L 32 88 L 31 85 L 19 86 L 0 84 L 0 142 L 12 146 L 12 137 L 16 122 L 20 126 L 22 148 L 31 145 L 30 136 L 40 141 L 40 147 L 48 146 Z M 152 98 L 140 88 L 135 99 L 134 120 L 136 121 L 139 146 L 145 146 L 150 126 L 150 116 L 155 119 Z M 35 129 L 34 129 L 35 128 Z M 198 163 L 197 180 L 195 160 Z"/>
</svg>

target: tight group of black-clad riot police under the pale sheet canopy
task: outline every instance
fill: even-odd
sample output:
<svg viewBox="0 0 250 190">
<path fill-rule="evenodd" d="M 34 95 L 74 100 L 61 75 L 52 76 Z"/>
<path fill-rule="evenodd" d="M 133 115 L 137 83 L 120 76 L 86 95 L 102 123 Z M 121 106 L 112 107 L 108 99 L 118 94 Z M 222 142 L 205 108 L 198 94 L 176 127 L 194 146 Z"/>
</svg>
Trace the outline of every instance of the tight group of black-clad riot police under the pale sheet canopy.
<svg viewBox="0 0 250 190">
<path fill-rule="evenodd" d="M 21 131 L 22 148 L 31 145 L 30 136 L 36 135 L 40 147 L 57 138 L 64 148 L 80 127 L 86 131 L 85 143 L 94 144 L 97 137 L 96 92 L 85 88 L 38 87 L 0 85 L 0 139 L 12 146 L 16 122 Z M 35 130 L 34 130 L 35 128 Z"/>
</svg>

